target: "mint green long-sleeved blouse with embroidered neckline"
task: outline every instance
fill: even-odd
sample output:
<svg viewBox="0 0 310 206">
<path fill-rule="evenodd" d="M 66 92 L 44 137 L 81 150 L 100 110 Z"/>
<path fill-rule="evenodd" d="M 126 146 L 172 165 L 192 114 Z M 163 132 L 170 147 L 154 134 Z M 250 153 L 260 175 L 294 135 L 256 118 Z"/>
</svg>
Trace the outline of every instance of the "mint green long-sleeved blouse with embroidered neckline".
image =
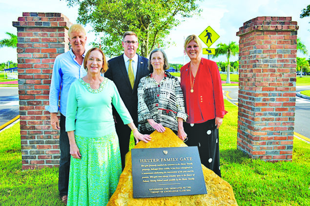
<svg viewBox="0 0 310 206">
<path fill-rule="evenodd" d="M 66 131 L 75 131 L 75 135 L 83 137 L 99 137 L 115 132 L 111 103 L 124 124 L 133 122 L 111 80 L 104 78 L 97 90 L 91 89 L 82 78 L 76 80 L 68 94 Z"/>
</svg>

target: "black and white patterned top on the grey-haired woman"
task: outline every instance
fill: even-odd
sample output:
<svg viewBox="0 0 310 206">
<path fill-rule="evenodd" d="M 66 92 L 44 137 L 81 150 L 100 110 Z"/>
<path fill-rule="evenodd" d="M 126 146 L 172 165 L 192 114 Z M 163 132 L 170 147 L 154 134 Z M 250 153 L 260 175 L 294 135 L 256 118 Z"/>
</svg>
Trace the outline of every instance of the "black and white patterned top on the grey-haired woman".
<svg viewBox="0 0 310 206">
<path fill-rule="evenodd" d="M 178 131 L 178 120 L 188 117 L 185 112 L 180 82 L 165 72 L 165 77 L 157 83 L 151 75 L 140 80 L 138 86 L 138 130 L 154 131 L 147 122 L 153 119 L 171 130 Z"/>
</svg>

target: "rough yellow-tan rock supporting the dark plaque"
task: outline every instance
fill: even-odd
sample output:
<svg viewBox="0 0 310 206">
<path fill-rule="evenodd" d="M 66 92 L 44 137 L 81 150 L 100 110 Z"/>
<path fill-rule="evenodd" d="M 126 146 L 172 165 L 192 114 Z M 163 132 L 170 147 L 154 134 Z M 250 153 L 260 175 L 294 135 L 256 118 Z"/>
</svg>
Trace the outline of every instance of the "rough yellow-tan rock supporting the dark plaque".
<svg viewBox="0 0 310 206">
<path fill-rule="evenodd" d="M 187 147 L 170 129 L 154 131 L 149 143 L 139 142 L 135 148 Z M 126 154 L 126 166 L 120 182 L 107 206 L 214 206 L 237 205 L 232 187 L 213 171 L 202 165 L 207 194 L 174 197 L 133 198 L 131 152 Z"/>
</svg>

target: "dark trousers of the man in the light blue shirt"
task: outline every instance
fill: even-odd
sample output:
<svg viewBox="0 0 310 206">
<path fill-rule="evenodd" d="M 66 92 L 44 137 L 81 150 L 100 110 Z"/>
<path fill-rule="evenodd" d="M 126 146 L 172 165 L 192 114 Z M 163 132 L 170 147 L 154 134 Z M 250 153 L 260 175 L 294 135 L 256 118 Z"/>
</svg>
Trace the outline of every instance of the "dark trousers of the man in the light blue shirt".
<svg viewBox="0 0 310 206">
<path fill-rule="evenodd" d="M 58 177 L 59 195 L 62 197 L 68 195 L 69 171 L 70 171 L 70 144 L 68 133 L 65 131 L 65 116 L 60 114 L 60 164 Z"/>
</svg>

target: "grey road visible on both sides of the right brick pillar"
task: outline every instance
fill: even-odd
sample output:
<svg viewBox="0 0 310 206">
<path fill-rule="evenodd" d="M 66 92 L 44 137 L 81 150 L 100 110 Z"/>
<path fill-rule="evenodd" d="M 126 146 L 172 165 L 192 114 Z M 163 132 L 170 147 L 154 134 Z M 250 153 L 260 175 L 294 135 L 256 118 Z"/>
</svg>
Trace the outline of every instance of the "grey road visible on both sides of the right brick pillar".
<svg viewBox="0 0 310 206">
<path fill-rule="evenodd" d="M 230 97 L 229 100 L 234 104 L 238 103 L 238 87 L 223 87 L 224 96 Z M 310 86 L 296 86 L 296 92 L 310 90 Z M 310 100 L 296 96 L 295 106 L 295 128 L 294 131 L 310 138 Z"/>
</svg>

